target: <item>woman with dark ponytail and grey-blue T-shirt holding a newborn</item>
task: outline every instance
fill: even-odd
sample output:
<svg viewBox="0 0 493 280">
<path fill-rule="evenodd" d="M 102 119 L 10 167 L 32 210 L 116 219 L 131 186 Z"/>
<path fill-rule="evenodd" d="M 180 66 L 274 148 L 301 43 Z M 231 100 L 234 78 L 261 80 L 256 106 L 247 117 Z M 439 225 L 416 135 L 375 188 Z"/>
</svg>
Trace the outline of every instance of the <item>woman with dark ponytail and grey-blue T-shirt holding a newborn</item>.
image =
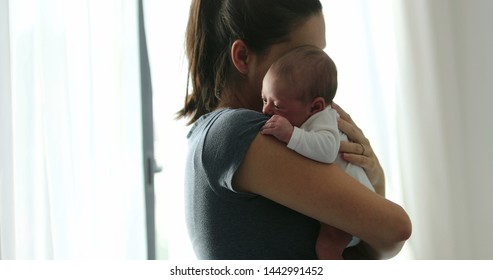
<svg viewBox="0 0 493 280">
<path fill-rule="evenodd" d="M 406 212 L 384 198 L 383 171 L 348 114 L 336 108 L 345 159 L 377 194 L 340 168 L 304 158 L 260 134 L 262 79 L 288 50 L 325 47 L 318 0 L 193 0 L 187 27 L 192 85 L 185 199 L 199 259 L 316 259 L 320 222 L 361 242 L 353 253 L 390 258 L 411 234 Z M 341 240 L 346 242 L 346 240 Z"/>
</svg>

